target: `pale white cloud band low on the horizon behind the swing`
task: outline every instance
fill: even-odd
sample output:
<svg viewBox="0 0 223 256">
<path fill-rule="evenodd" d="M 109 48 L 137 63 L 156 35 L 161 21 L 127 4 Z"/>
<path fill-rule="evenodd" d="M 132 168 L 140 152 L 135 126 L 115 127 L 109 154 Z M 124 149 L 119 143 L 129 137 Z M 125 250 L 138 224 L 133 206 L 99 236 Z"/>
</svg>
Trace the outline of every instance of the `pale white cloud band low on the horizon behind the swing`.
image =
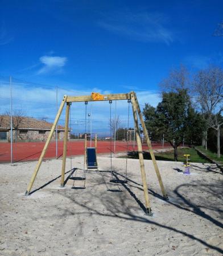
<svg viewBox="0 0 223 256">
<path fill-rule="evenodd" d="M 0 81 L 0 111 L 10 109 L 10 87 L 9 82 Z M 58 105 L 64 96 L 90 95 L 92 92 L 102 94 L 114 93 L 109 90 L 98 88 L 86 88 L 83 90 L 58 89 Z M 145 103 L 156 106 L 160 101 L 160 95 L 156 91 L 137 91 L 137 97 L 141 110 Z M 121 126 L 127 127 L 128 115 L 127 100 L 117 101 L 116 114 L 121 119 Z M 56 88 L 44 88 L 40 85 L 32 85 L 25 82 L 13 82 L 13 109 L 22 109 L 27 116 L 34 118 L 49 118 L 47 121 L 53 122 L 56 115 Z M 65 109 L 65 108 L 64 108 Z M 87 113 L 91 113 L 93 133 L 106 133 L 109 135 L 110 104 L 108 101 L 88 102 Z M 115 114 L 115 101 L 111 104 L 111 116 Z M 64 125 L 65 112 L 61 115 L 60 124 Z M 87 118 L 88 129 L 88 118 Z M 85 131 L 85 103 L 75 102 L 71 107 L 71 123 L 75 133 Z M 134 127 L 132 107 L 130 104 L 130 127 Z"/>
</svg>

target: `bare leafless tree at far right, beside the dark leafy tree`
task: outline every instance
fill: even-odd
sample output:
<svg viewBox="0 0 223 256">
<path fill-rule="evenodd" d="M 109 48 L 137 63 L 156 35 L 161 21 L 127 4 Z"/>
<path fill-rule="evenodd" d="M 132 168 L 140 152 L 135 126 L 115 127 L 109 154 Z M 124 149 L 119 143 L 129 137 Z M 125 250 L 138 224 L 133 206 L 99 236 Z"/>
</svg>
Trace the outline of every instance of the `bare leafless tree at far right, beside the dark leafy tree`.
<svg viewBox="0 0 223 256">
<path fill-rule="evenodd" d="M 217 154 L 220 157 L 220 125 L 223 110 L 223 70 L 209 67 L 196 73 L 193 79 L 196 102 L 205 120 L 203 146 L 207 149 L 208 129 L 217 131 Z"/>
</svg>

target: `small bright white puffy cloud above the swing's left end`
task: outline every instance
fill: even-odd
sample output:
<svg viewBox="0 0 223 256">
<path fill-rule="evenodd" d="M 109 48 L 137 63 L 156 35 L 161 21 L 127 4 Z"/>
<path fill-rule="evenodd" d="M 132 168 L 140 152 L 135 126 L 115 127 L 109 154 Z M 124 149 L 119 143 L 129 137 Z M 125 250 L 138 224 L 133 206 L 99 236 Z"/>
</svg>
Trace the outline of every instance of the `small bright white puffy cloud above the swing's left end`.
<svg viewBox="0 0 223 256">
<path fill-rule="evenodd" d="M 65 63 L 67 62 L 67 57 L 45 55 L 40 57 L 39 60 L 44 66 L 38 71 L 38 74 L 48 73 L 52 71 L 61 72 L 61 68 L 63 68 Z"/>
</svg>

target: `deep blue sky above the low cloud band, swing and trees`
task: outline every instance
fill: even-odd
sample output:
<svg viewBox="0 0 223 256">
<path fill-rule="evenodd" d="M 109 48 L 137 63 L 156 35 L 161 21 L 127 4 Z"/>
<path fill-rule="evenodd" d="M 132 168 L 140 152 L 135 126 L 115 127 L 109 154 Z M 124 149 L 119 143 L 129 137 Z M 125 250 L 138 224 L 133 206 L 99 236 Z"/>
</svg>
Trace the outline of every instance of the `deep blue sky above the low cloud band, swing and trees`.
<svg viewBox="0 0 223 256">
<path fill-rule="evenodd" d="M 141 104 L 156 105 L 171 68 L 223 63 L 223 37 L 213 36 L 222 1 L 1 0 L 0 7 L 3 77 L 75 94 L 135 90 Z M 47 88 L 36 86 L 29 93 L 41 97 Z"/>
</svg>

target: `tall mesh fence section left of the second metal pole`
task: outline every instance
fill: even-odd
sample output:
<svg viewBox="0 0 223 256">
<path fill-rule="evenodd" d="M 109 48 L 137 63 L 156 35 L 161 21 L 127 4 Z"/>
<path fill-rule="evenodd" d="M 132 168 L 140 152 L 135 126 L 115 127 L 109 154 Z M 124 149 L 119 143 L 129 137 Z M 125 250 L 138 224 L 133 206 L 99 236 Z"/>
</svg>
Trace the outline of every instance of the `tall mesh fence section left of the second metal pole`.
<svg viewBox="0 0 223 256">
<path fill-rule="evenodd" d="M 0 77 L 0 85 L 0 160 L 16 162 L 38 158 L 56 115 L 56 86 L 14 77 Z M 52 141 L 55 139 L 56 133 Z M 50 156 L 56 156 L 56 151 Z"/>
</svg>

